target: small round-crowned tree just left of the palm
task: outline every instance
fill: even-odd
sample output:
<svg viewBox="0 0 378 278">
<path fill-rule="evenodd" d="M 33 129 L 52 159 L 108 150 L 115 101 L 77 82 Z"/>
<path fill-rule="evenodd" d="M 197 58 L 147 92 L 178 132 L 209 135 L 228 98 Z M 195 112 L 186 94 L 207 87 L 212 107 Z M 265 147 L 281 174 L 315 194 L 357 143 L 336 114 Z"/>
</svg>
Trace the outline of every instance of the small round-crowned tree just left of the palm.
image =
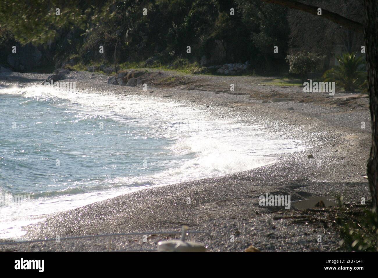
<svg viewBox="0 0 378 278">
<path fill-rule="evenodd" d="M 304 82 L 309 72 L 317 70 L 322 59 L 323 56 L 318 56 L 306 51 L 299 51 L 289 54 L 286 57 L 286 62 L 290 67 L 289 72 L 301 74 L 302 82 Z"/>
</svg>

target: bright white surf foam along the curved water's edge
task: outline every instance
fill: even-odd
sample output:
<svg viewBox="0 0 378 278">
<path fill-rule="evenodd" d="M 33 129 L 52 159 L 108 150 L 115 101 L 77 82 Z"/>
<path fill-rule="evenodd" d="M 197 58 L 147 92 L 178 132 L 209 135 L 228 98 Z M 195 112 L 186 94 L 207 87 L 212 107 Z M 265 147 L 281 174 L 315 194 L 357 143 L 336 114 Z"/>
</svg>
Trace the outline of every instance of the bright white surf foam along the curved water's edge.
<svg viewBox="0 0 378 278">
<path fill-rule="evenodd" d="M 141 119 L 141 127 L 149 127 L 156 138 L 175 139 L 169 147 L 174 154 L 195 154 L 195 158 L 169 169 L 148 175 L 139 180 L 111 177 L 109 186 L 102 190 L 56 197 L 40 197 L 20 207 L 0 208 L 0 238 L 20 237 L 22 226 L 36 221 L 35 217 L 48 213 L 69 210 L 96 201 L 146 188 L 150 185 L 168 185 L 189 180 L 225 175 L 245 171 L 276 161 L 267 155 L 302 151 L 307 147 L 300 141 L 267 140 L 264 131 L 256 125 L 235 124 L 230 121 L 212 119 L 205 111 L 184 106 L 181 102 L 128 96 L 100 95 L 93 92 L 62 92 L 50 87 L 28 87 L 1 89 L 0 94 L 17 94 L 39 100 L 49 98 L 68 99 L 75 110 L 103 115 L 120 122 L 127 117 Z M 79 104 L 79 105 L 77 105 Z M 58 104 L 57 104 L 58 105 Z M 66 104 L 61 104 L 67 106 Z M 67 107 L 67 112 L 72 107 Z M 126 117 L 126 118 L 125 118 Z M 147 164 L 150 163 L 147 159 Z M 168 164 L 170 162 L 167 162 Z M 119 184 L 150 184 L 146 186 L 122 187 Z M 43 219 L 37 217 L 37 219 Z"/>
</svg>

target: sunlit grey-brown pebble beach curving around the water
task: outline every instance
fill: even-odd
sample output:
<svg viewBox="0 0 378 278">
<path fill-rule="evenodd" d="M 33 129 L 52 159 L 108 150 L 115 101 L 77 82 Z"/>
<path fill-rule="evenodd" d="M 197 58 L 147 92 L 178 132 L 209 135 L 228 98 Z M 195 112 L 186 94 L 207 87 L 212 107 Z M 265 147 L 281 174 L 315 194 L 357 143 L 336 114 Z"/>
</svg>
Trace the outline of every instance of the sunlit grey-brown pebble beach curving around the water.
<svg viewBox="0 0 378 278">
<path fill-rule="evenodd" d="M 178 84 L 164 82 L 172 76 L 177 76 Z M 0 84 L 31 85 L 46 77 L 0 74 Z M 103 74 L 72 72 L 66 81 L 75 81 L 77 90 L 183 101 L 187 106 L 207 109 L 217 118 L 258 124 L 271 138 L 301 140 L 312 148 L 308 153 L 281 155 L 276 163 L 248 171 L 142 189 L 53 214 L 45 221 L 27 226 L 25 238 L 179 231 L 185 224 L 189 230 L 206 231 L 213 236 L 211 251 L 243 251 L 251 244 L 262 251 L 336 251 L 340 239 L 334 227 L 289 224 L 287 219 L 277 219 L 277 214 L 301 214 L 301 211 L 293 207 L 283 211 L 277 207 L 262 207 L 258 197 L 270 193 L 290 195 L 292 202 L 330 195 L 342 195 L 344 202 L 351 203 L 359 202 L 361 197 L 370 200 L 367 180 L 362 177 L 371 139 L 370 113 L 369 109 L 364 110 L 367 99 L 352 102 L 352 107 L 338 103 L 334 106 L 321 94 L 303 93 L 301 88 L 295 87 L 253 84 L 254 77 L 249 76 L 192 76 L 150 71 L 151 85 L 146 92 L 141 87 L 109 85 L 107 79 Z M 227 93 L 229 83 L 234 81 L 241 92 L 238 103 L 235 95 Z M 277 97 L 291 101 L 263 102 Z M 366 122 L 365 130 L 360 127 L 361 121 Z M 307 158 L 310 153 L 313 159 Z M 322 160 L 320 167 L 319 160 Z M 188 197 L 191 205 L 186 203 Z M 327 235 L 320 244 L 316 241 L 319 234 Z M 232 235 L 234 242 L 230 241 Z M 40 250 L 60 248 L 51 243 Z M 85 251 L 95 247 L 81 248 L 70 245 L 67 250 Z"/>
</svg>

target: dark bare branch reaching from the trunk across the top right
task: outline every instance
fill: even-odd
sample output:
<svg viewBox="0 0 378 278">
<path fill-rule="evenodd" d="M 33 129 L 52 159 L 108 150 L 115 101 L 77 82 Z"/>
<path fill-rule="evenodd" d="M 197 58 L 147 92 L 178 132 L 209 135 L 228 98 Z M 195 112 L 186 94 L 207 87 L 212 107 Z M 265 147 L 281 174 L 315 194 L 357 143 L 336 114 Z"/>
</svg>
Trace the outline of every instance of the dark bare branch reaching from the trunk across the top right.
<svg viewBox="0 0 378 278">
<path fill-rule="evenodd" d="M 279 4 L 282 6 L 287 6 L 289 8 L 297 9 L 299 11 L 308 12 L 310 14 L 318 15 L 318 8 L 316 6 L 307 5 L 301 2 L 293 1 L 293 0 L 262 0 L 267 3 Z M 363 33 L 363 25 L 359 22 L 347 19 L 346 17 L 340 16 L 339 14 L 335 14 L 334 12 L 327 11 L 322 9 L 322 17 L 329 19 L 335 23 L 338 23 L 345 28 L 350 30 L 356 31 L 358 33 Z"/>
</svg>

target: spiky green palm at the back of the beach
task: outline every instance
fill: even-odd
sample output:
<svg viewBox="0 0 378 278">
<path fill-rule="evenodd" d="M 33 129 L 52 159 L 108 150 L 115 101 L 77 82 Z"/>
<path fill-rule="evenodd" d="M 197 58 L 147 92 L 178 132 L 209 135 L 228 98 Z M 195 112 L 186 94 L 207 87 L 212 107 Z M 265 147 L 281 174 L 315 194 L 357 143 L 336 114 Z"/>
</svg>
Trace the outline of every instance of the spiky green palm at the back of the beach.
<svg viewBox="0 0 378 278">
<path fill-rule="evenodd" d="M 364 65 L 363 56 L 356 57 L 354 53 L 344 53 L 337 56 L 339 66 L 327 70 L 323 79 L 326 82 L 335 82 L 336 86 L 343 87 L 345 91 L 359 89 L 366 80 L 366 72 L 359 70 Z"/>
</svg>

